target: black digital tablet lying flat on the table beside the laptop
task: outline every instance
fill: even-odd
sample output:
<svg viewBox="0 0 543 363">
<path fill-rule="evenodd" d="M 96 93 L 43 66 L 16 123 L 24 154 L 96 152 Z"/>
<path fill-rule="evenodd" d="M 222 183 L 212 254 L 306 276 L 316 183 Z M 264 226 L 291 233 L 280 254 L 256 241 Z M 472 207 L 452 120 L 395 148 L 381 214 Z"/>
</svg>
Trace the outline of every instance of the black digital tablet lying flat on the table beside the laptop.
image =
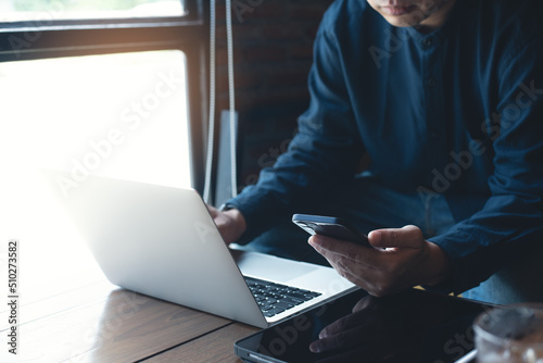
<svg viewBox="0 0 543 363">
<path fill-rule="evenodd" d="M 235 352 L 255 363 L 453 363 L 472 352 L 472 322 L 489 308 L 419 289 L 387 298 L 358 290 L 240 339 Z"/>
</svg>

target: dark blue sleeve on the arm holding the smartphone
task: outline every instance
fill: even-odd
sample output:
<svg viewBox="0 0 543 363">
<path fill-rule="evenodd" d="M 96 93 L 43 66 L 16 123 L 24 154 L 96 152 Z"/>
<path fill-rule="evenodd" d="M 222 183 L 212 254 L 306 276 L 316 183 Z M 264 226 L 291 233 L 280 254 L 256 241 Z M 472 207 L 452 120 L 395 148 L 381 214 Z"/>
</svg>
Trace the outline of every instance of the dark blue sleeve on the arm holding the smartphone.
<svg viewBox="0 0 543 363">
<path fill-rule="evenodd" d="M 518 45 L 498 65 L 500 117 L 482 128 L 494 152 L 491 197 L 471 217 L 431 238 L 453 261 L 459 293 L 543 243 L 543 46 Z"/>
</svg>

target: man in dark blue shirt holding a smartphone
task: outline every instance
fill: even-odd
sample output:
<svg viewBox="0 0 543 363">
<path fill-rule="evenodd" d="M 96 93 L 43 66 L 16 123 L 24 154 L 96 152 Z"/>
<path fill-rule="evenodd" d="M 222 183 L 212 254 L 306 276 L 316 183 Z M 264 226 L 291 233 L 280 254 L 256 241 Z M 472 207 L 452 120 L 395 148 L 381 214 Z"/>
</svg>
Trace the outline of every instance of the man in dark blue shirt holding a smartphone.
<svg viewBox="0 0 543 363">
<path fill-rule="evenodd" d="M 308 242 L 371 295 L 424 285 L 543 301 L 542 10 L 536 0 L 336 1 L 289 150 L 212 209 L 225 240 L 313 259 L 291 214 L 336 215 L 375 249 Z"/>
</svg>

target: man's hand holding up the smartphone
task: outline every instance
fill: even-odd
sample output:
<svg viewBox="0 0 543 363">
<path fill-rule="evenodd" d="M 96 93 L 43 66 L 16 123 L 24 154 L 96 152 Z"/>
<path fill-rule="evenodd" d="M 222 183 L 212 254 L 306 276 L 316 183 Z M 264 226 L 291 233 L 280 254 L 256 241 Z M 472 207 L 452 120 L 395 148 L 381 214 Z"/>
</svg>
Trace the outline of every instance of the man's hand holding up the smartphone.
<svg viewBox="0 0 543 363">
<path fill-rule="evenodd" d="M 452 275 L 449 256 L 416 226 L 374 230 L 368 239 L 374 249 L 319 235 L 308 242 L 341 276 L 377 297 Z"/>
</svg>

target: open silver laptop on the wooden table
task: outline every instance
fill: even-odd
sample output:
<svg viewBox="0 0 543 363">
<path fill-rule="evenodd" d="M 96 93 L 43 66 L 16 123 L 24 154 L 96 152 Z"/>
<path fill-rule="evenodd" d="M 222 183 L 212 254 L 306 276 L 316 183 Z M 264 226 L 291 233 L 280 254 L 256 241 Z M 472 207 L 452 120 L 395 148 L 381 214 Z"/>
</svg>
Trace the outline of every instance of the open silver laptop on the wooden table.
<svg viewBox="0 0 543 363">
<path fill-rule="evenodd" d="M 357 289 L 331 267 L 228 248 L 193 189 L 98 176 L 71 184 L 67 173 L 42 174 L 119 287 L 257 327 Z M 288 303 L 273 314 L 253 295 L 263 281 L 287 291 Z"/>
</svg>

